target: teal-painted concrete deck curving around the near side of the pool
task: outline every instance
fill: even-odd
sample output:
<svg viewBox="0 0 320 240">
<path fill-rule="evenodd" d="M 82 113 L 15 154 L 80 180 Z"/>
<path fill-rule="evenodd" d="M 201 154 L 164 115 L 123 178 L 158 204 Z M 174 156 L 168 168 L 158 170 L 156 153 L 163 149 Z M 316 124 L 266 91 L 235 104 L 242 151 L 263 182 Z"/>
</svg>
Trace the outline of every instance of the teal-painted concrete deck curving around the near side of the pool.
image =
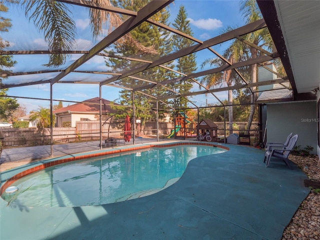
<svg viewBox="0 0 320 240">
<path fill-rule="evenodd" d="M 309 193 L 307 176 L 273 158 L 265 167 L 262 150 L 225 146 L 141 198 L 81 207 L 7 206 L 1 198 L 0 239 L 280 239 Z"/>
</svg>

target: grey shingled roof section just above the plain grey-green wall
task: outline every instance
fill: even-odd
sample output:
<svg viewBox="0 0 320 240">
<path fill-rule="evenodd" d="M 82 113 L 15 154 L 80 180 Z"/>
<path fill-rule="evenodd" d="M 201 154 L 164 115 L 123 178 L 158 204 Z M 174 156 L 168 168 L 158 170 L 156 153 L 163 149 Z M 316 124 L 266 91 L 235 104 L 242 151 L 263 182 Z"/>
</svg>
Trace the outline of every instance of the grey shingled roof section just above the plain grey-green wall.
<svg viewBox="0 0 320 240">
<path fill-rule="evenodd" d="M 257 102 L 272 102 L 272 101 L 290 101 L 292 100 L 292 90 L 287 88 L 277 89 L 283 86 L 275 86 L 270 91 L 263 91 L 256 99 Z"/>
</svg>

